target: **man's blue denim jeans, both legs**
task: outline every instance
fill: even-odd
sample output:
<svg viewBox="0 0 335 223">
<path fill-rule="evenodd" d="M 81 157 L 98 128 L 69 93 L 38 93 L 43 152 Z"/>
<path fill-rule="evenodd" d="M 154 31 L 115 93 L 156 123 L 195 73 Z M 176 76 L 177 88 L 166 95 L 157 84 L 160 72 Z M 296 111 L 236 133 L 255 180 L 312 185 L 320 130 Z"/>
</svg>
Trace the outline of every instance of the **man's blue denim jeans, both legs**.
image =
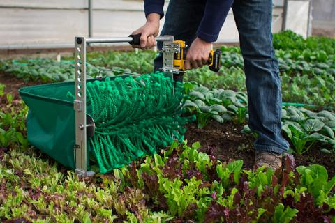
<svg viewBox="0 0 335 223">
<path fill-rule="evenodd" d="M 161 36 L 173 35 L 190 46 L 195 39 L 204 0 L 170 0 Z M 283 153 L 288 141 L 281 135 L 281 79 L 272 46 L 272 1 L 235 0 L 232 6 L 239 31 L 248 91 L 248 125 L 258 133 L 256 151 Z M 161 45 L 158 43 L 158 48 Z M 155 61 L 162 67 L 162 56 Z"/>
</svg>

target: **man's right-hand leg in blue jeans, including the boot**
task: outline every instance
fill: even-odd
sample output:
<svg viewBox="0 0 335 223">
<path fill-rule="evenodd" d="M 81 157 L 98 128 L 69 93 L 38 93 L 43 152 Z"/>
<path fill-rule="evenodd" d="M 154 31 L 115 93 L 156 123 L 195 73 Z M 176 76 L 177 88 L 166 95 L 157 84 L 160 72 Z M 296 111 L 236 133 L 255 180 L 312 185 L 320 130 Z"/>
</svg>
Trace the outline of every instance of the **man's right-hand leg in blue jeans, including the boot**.
<svg viewBox="0 0 335 223">
<path fill-rule="evenodd" d="M 259 134 L 255 141 L 256 162 L 278 161 L 280 157 L 271 155 L 287 151 L 289 144 L 281 135 L 281 79 L 272 46 L 272 1 L 235 0 L 232 9 L 244 58 L 248 124 Z"/>
</svg>

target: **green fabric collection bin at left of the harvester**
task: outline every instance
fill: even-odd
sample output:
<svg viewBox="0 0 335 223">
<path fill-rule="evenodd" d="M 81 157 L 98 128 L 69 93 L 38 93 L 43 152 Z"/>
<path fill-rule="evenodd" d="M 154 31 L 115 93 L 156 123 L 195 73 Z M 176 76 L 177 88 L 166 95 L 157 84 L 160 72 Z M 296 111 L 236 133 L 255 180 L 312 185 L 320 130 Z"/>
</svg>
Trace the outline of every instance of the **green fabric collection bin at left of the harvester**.
<svg viewBox="0 0 335 223">
<path fill-rule="evenodd" d="M 121 76 L 119 76 L 121 77 Z M 126 77 L 126 75 L 124 76 Z M 96 79 L 89 79 L 93 82 Z M 75 82 L 27 86 L 19 90 L 29 107 L 27 135 L 31 145 L 36 146 L 65 167 L 75 169 L 75 110 L 73 99 Z M 89 111 L 89 106 L 87 106 Z M 89 158 L 87 141 L 87 159 Z M 87 162 L 89 170 L 89 162 Z"/>
</svg>

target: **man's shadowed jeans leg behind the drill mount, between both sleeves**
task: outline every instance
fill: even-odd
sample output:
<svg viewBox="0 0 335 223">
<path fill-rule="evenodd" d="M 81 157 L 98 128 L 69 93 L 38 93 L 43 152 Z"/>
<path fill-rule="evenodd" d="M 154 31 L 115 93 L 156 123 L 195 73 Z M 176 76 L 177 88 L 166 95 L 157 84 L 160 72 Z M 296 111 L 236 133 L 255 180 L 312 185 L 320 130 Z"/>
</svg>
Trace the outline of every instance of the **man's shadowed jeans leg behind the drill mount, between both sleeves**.
<svg viewBox="0 0 335 223">
<path fill-rule="evenodd" d="M 203 0 L 170 0 L 161 36 L 172 35 L 174 40 L 184 40 L 190 46 L 196 37 L 205 4 Z M 162 43 L 158 43 L 158 49 L 161 48 Z M 154 66 L 155 72 L 162 68 L 162 54 L 156 57 Z M 182 76 L 177 80 L 182 82 Z"/>
</svg>

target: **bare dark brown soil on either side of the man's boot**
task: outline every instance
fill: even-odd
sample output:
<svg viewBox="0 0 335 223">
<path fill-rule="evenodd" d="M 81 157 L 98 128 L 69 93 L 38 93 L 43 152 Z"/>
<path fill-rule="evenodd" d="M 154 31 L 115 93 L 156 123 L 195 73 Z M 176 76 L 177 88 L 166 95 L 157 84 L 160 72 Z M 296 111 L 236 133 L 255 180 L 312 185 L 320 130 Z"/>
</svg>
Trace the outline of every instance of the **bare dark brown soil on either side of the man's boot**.
<svg viewBox="0 0 335 223">
<path fill-rule="evenodd" d="M 192 144 L 199 141 L 202 147 L 200 151 L 207 152 L 214 150 L 214 155 L 223 162 L 229 160 L 243 160 L 244 168 L 253 168 L 255 152 L 253 141 L 255 138 L 251 134 L 241 134 L 243 125 L 232 122 L 218 123 L 211 121 L 209 125 L 202 129 L 197 128 L 197 123 L 189 123 L 187 126 L 185 139 Z M 304 155 L 295 155 L 297 166 L 309 164 L 321 164 L 325 166 L 329 177 L 335 175 L 335 155 L 322 153 L 321 144 L 315 144 L 310 151 Z"/>
</svg>

